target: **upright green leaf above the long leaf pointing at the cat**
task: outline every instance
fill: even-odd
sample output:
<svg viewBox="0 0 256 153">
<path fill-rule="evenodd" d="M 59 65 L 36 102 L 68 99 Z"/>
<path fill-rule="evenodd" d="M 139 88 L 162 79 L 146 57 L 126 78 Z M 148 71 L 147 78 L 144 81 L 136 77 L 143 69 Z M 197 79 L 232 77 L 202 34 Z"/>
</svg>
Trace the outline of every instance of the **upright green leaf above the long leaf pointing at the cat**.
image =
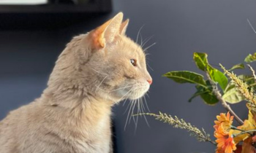
<svg viewBox="0 0 256 153">
<path fill-rule="evenodd" d="M 208 55 L 206 53 L 194 52 L 193 59 L 195 60 L 197 68 L 199 68 L 200 70 L 206 71 L 206 68 L 208 66 L 207 56 Z"/>
</svg>

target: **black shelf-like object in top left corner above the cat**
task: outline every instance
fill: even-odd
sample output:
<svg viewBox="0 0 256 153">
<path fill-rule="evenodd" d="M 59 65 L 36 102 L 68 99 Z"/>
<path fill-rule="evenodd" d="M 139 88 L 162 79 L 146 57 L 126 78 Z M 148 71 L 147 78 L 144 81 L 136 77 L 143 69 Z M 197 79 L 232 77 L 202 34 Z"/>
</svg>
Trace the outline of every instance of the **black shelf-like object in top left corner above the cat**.
<svg viewBox="0 0 256 153">
<path fill-rule="evenodd" d="M 55 30 L 111 11 L 111 0 L 94 0 L 83 5 L 0 5 L 0 31 Z"/>
</svg>

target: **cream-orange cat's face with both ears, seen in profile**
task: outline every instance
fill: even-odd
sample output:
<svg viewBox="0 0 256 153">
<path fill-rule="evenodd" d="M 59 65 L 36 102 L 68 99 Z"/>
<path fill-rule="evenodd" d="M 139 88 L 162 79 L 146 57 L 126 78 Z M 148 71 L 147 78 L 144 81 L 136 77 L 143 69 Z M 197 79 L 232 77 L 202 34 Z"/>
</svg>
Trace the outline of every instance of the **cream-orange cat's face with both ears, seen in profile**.
<svg viewBox="0 0 256 153">
<path fill-rule="evenodd" d="M 123 14 L 118 13 L 89 34 L 96 52 L 90 65 L 100 81 L 97 91 L 115 101 L 140 98 L 152 83 L 146 55 L 140 45 L 125 35 L 129 20 L 122 20 Z"/>
</svg>

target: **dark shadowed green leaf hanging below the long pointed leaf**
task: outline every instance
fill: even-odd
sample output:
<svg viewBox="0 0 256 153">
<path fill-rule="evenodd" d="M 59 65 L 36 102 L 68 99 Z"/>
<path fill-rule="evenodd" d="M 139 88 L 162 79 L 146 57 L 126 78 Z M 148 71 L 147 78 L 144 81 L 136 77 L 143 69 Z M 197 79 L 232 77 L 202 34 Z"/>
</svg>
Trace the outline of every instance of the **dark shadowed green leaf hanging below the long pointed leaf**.
<svg viewBox="0 0 256 153">
<path fill-rule="evenodd" d="M 200 97 L 203 99 L 203 101 L 208 105 L 214 105 L 219 102 L 216 95 L 212 93 L 211 90 L 208 90 L 207 88 L 197 86 L 197 90 L 203 90 L 206 91 L 206 93 L 200 94 Z"/>
</svg>

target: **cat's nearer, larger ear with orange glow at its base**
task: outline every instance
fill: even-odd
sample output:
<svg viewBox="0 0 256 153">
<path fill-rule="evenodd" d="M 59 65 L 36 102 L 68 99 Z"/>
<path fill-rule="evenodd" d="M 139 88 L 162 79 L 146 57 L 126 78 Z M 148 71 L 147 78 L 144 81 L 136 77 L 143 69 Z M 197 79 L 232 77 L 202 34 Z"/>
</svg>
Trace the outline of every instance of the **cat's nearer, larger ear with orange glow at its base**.
<svg viewBox="0 0 256 153">
<path fill-rule="evenodd" d="M 115 37 L 119 34 L 123 16 L 123 13 L 119 12 L 115 17 L 92 31 L 94 47 L 102 48 L 105 47 L 106 43 L 113 42 Z"/>
</svg>

